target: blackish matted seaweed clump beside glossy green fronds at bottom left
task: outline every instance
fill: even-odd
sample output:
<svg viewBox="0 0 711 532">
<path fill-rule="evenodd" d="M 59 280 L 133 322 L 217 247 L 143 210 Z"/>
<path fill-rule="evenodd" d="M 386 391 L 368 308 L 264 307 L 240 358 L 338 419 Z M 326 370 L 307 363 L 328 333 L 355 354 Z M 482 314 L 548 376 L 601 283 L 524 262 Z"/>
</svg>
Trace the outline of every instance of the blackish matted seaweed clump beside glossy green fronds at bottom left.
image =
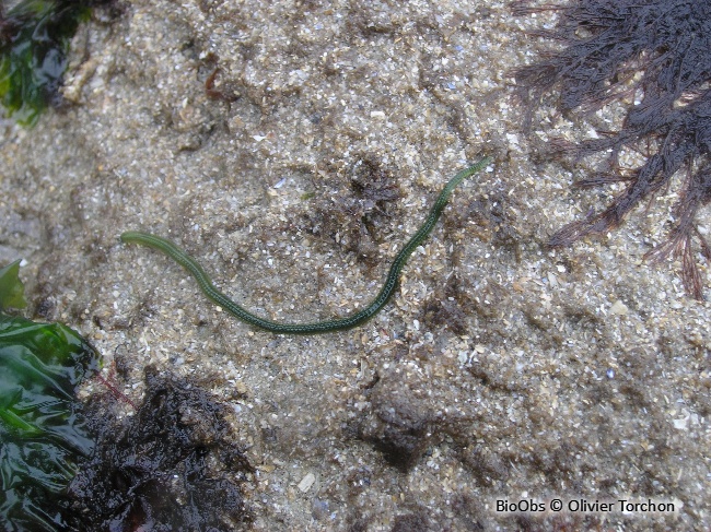
<svg viewBox="0 0 711 532">
<path fill-rule="evenodd" d="M 228 407 L 195 380 L 145 370 L 135 415 L 88 406 L 96 451 L 72 482 L 73 522 L 82 531 L 242 530 L 250 515 L 241 483 L 253 472 L 230 441 Z M 107 395 L 109 401 L 113 401 Z"/>
</svg>

